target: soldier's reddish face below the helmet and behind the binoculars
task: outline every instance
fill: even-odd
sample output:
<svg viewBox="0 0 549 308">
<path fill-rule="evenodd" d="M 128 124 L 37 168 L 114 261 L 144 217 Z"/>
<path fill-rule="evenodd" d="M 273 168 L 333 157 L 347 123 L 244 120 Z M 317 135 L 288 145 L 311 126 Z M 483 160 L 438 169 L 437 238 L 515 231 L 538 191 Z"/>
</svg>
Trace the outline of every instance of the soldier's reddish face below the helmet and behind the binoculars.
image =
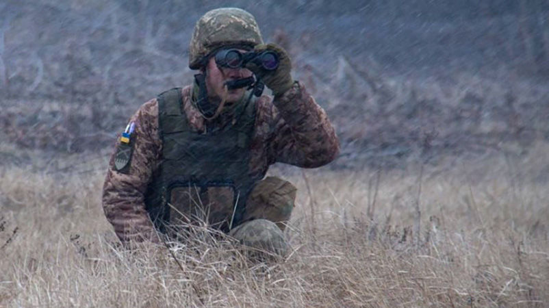
<svg viewBox="0 0 549 308">
<path fill-rule="evenodd" d="M 224 95 L 227 95 L 227 103 L 235 103 L 240 101 L 242 95 L 246 92 L 246 88 L 227 90 L 227 94 L 225 94 L 225 82 L 234 79 L 251 77 L 252 75 L 252 72 L 247 68 L 219 67 L 216 64 L 214 57 L 209 59 L 206 70 L 206 88 L 208 91 L 208 97 L 210 99 L 218 100 Z"/>
</svg>

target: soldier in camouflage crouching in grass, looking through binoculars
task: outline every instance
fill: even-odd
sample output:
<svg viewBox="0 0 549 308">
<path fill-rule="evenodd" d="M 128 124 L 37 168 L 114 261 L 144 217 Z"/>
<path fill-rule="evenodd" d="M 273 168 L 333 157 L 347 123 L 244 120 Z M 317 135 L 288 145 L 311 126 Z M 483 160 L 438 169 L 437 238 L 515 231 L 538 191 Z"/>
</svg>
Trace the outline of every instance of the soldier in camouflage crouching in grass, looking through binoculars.
<svg viewBox="0 0 549 308">
<path fill-rule="evenodd" d="M 264 44 L 248 12 L 207 12 L 189 49 L 194 82 L 144 103 L 120 136 L 103 187 L 105 216 L 123 243 L 159 242 L 157 232 L 202 221 L 285 255 L 296 188 L 264 177 L 275 162 L 331 162 L 339 152 L 333 126 L 292 79 L 288 53 Z M 274 97 L 261 95 L 263 85 Z"/>
</svg>

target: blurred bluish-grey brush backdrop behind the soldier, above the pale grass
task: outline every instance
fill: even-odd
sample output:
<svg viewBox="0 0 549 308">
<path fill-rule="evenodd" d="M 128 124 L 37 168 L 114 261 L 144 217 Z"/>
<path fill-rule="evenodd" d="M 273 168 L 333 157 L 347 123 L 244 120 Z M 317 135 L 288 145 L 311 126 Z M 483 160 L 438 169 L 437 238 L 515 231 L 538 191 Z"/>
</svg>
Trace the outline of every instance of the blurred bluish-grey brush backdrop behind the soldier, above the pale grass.
<svg viewBox="0 0 549 308">
<path fill-rule="evenodd" d="M 337 168 L 436 164 L 502 149 L 520 156 L 549 140 L 548 1 L 230 5 L 251 12 L 264 40 L 292 55 L 294 77 L 337 127 Z M 221 6 L 1 1 L 3 161 L 24 162 L 17 149 L 112 148 L 142 103 L 190 83 L 194 23 Z"/>
</svg>

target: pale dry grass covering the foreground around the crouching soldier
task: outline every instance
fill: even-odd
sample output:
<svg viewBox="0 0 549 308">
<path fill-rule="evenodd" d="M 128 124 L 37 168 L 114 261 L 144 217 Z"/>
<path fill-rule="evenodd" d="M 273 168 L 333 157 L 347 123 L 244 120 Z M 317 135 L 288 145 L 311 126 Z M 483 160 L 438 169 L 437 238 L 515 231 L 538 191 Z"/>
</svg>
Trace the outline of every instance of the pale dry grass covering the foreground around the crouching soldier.
<svg viewBox="0 0 549 308">
<path fill-rule="evenodd" d="M 3 166 L 0 306 L 547 307 L 548 147 L 383 170 L 377 191 L 376 170 L 307 170 L 309 194 L 277 168 L 299 188 L 294 253 L 253 263 L 199 228 L 173 248 L 183 271 L 166 248 L 116 248 L 103 171 Z"/>
</svg>

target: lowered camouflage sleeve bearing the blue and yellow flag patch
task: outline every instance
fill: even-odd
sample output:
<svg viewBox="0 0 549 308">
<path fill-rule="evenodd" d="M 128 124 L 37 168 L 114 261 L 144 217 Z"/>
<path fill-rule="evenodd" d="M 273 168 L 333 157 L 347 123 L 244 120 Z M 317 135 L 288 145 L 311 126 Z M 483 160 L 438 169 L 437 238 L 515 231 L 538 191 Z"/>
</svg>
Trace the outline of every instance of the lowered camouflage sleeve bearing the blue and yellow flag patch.
<svg viewBox="0 0 549 308">
<path fill-rule="evenodd" d="M 115 168 L 114 160 L 120 147 L 117 140 L 103 185 L 103 211 L 123 243 L 158 242 L 144 204 L 144 194 L 161 153 L 157 115 L 158 104 L 153 99 L 131 117 L 135 130 L 130 136 L 133 150 L 129 167 L 123 171 Z"/>
</svg>

